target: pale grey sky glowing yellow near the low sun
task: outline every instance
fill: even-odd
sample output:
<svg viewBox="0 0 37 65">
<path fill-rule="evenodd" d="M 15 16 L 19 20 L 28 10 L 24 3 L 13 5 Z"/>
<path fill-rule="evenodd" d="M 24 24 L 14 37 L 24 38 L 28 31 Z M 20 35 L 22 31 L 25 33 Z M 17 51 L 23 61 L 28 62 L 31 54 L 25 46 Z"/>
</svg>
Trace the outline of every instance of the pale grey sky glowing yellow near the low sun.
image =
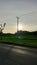
<svg viewBox="0 0 37 65">
<path fill-rule="evenodd" d="M 0 0 L 0 24 L 4 33 L 17 32 L 17 16 L 23 31 L 37 31 L 37 0 Z"/>
</svg>

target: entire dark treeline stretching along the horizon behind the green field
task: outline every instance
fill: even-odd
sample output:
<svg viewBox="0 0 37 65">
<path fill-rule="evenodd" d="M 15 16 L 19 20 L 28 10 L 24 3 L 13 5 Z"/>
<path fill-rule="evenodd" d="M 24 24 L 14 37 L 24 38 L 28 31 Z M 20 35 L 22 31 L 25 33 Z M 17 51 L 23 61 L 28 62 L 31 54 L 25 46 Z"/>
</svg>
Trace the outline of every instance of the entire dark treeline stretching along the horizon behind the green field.
<svg viewBox="0 0 37 65">
<path fill-rule="evenodd" d="M 11 33 L 0 33 L 0 35 L 4 35 L 4 36 L 37 35 L 37 31 L 33 31 L 33 32 L 29 32 L 29 31 L 18 31 L 15 34 L 11 34 Z"/>
</svg>

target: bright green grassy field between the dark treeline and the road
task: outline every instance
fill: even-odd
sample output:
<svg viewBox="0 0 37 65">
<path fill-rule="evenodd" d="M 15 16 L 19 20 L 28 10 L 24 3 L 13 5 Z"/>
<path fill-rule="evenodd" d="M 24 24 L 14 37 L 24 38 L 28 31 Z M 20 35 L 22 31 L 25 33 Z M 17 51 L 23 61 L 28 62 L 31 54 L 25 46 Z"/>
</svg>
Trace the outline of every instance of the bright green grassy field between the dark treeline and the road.
<svg viewBox="0 0 37 65">
<path fill-rule="evenodd" d="M 25 35 L 21 38 L 16 38 L 16 36 L 0 36 L 0 42 L 7 42 L 13 44 L 20 44 L 25 46 L 37 47 L 37 35 Z"/>
</svg>

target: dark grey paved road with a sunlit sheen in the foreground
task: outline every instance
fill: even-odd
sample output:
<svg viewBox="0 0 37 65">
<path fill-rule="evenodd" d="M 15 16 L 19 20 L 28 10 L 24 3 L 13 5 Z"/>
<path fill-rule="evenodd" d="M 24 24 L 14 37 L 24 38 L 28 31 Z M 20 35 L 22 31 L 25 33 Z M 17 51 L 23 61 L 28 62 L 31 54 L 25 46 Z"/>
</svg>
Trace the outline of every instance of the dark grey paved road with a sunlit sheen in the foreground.
<svg viewBox="0 0 37 65">
<path fill-rule="evenodd" d="M 37 65 L 37 49 L 0 43 L 0 65 Z"/>
</svg>

